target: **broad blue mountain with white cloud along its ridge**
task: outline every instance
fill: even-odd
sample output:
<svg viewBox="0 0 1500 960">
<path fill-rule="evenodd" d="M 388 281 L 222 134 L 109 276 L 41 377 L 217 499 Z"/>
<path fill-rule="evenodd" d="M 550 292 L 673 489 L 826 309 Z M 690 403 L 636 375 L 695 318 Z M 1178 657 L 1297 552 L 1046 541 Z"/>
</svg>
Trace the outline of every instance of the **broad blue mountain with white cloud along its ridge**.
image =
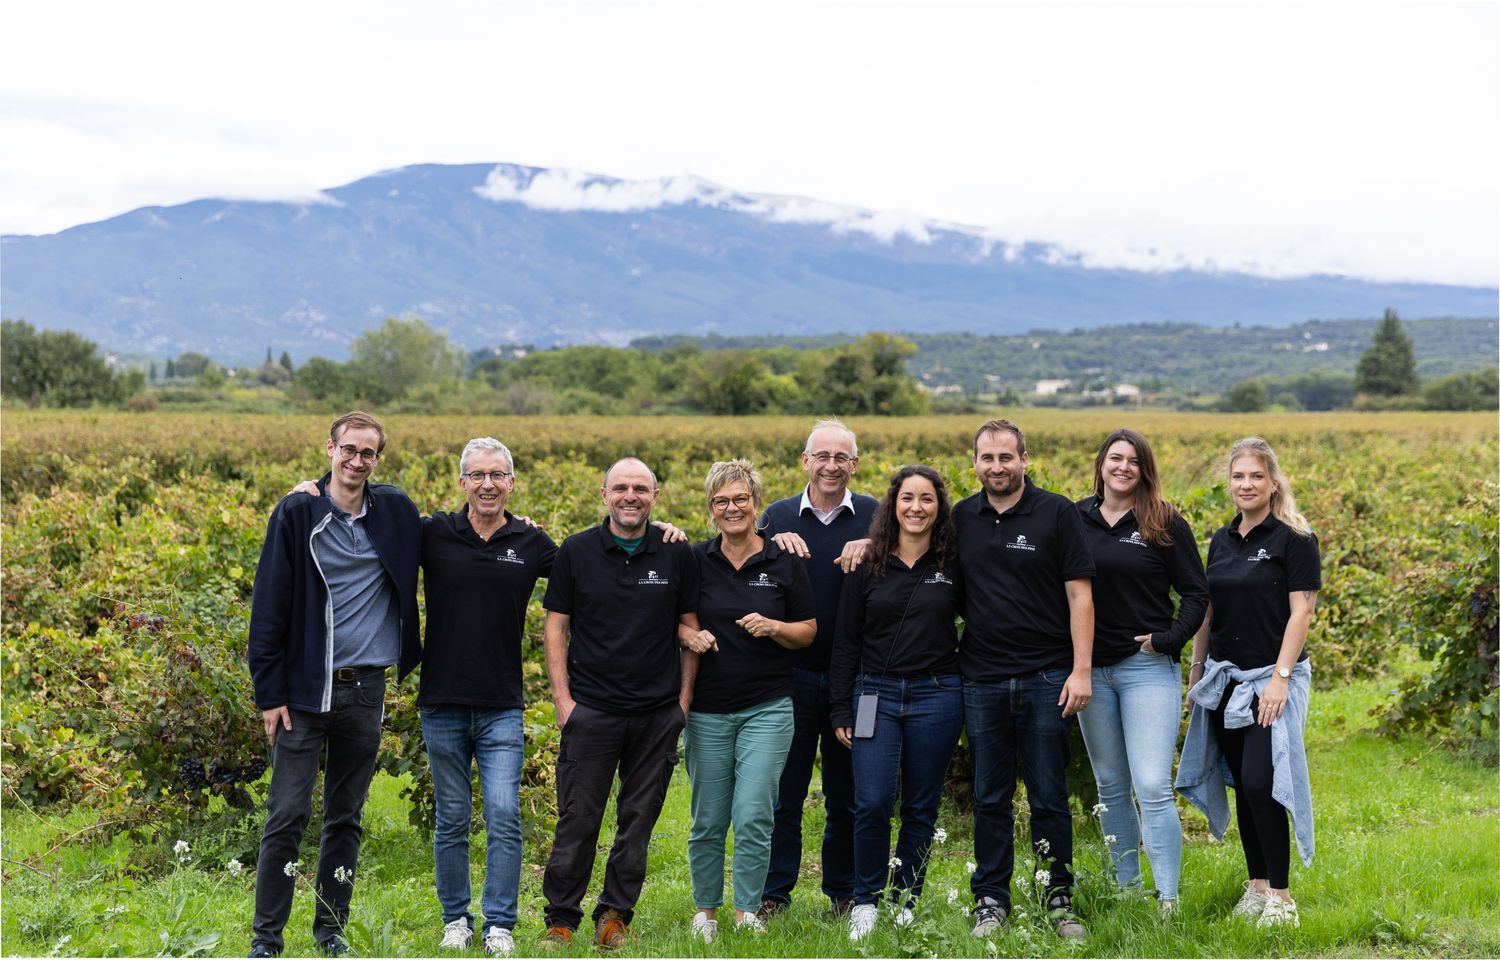
<svg viewBox="0 0 1500 960">
<path fill-rule="evenodd" d="M 0 238 L 0 309 L 106 350 L 342 358 L 386 316 L 454 344 L 1011 334 L 1156 321 L 1496 316 L 1492 286 L 1088 266 L 1041 243 L 694 177 L 416 165 L 298 201 L 142 207 Z"/>
</svg>

